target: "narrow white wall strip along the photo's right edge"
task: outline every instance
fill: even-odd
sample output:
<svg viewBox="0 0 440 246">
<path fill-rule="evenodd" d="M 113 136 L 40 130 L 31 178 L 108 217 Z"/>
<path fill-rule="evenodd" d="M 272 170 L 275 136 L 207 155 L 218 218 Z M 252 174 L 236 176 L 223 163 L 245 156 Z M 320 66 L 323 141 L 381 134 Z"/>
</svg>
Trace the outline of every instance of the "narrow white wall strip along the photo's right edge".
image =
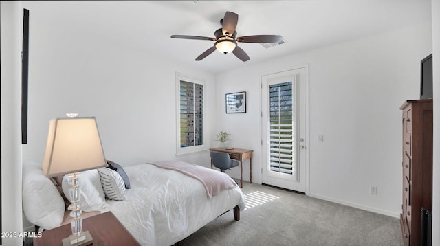
<svg viewBox="0 0 440 246">
<path fill-rule="evenodd" d="M 440 0 L 432 0 L 434 157 L 432 167 L 432 245 L 440 245 Z"/>
</svg>

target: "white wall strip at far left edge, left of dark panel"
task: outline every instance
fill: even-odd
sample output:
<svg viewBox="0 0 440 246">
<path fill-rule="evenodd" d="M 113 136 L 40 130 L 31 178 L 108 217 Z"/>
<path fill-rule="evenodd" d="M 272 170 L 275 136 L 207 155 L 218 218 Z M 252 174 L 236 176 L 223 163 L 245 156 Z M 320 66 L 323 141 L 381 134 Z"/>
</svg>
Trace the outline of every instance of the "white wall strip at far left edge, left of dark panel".
<svg viewBox="0 0 440 246">
<path fill-rule="evenodd" d="M 21 20 L 20 3 L 1 1 L 1 232 L 3 245 L 21 245 Z"/>
</svg>

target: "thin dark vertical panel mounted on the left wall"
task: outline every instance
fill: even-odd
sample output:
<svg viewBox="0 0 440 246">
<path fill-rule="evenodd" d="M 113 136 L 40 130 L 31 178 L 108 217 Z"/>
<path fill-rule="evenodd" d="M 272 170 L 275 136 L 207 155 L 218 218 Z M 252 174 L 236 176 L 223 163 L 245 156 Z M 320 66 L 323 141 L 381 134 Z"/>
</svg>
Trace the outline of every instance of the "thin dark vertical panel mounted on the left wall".
<svg viewBox="0 0 440 246">
<path fill-rule="evenodd" d="M 21 51 L 21 143 L 28 144 L 28 68 L 29 10 L 23 9 L 23 47 Z"/>
</svg>

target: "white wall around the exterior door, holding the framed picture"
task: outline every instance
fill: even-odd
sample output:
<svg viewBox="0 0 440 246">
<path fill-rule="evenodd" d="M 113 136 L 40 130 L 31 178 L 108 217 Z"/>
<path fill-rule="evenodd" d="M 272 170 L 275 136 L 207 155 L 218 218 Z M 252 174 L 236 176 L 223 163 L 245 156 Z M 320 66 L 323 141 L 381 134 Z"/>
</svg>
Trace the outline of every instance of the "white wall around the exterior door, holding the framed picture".
<svg viewBox="0 0 440 246">
<path fill-rule="evenodd" d="M 255 150 L 252 175 L 261 182 L 260 76 L 308 63 L 309 195 L 397 217 L 399 107 L 419 98 L 420 60 L 432 52 L 431 42 L 425 23 L 219 74 L 217 98 L 246 91 L 248 113 L 227 115 L 219 99 L 217 131 L 231 133 L 232 146 Z M 239 170 L 230 174 L 239 177 Z M 377 195 L 369 194 L 371 185 Z"/>
</svg>

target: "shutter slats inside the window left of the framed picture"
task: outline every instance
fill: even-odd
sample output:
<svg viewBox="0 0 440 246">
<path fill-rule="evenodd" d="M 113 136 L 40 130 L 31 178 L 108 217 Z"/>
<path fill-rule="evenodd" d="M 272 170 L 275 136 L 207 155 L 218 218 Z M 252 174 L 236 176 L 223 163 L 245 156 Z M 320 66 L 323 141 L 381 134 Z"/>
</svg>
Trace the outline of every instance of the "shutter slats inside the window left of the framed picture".
<svg viewBox="0 0 440 246">
<path fill-rule="evenodd" d="M 203 85 L 180 81 L 180 146 L 203 145 Z"/>
</svg>

